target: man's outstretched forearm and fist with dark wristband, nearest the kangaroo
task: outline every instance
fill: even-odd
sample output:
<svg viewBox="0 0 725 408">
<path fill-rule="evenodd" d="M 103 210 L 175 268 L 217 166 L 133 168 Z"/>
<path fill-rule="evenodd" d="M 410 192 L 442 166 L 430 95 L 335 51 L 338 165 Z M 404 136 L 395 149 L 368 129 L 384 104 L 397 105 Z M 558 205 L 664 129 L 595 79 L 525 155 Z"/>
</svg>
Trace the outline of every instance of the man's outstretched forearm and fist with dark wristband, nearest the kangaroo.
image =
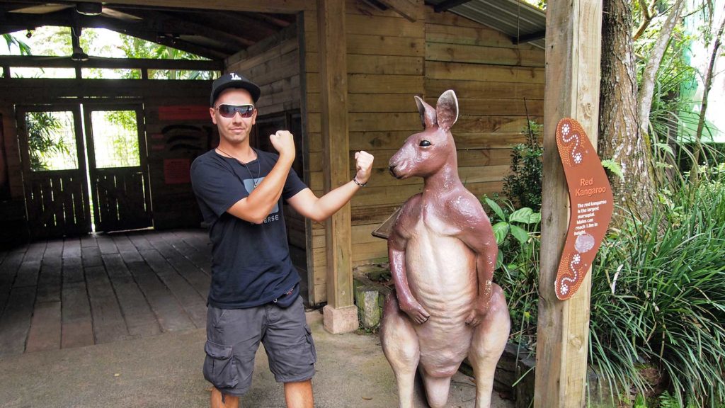
<svg viewBox="0 0 725 408">
<path fill-rule="evenodd" d="M 366 184 L 370 179 L 370 170 L 373 167 L 373 155 L 368 152 L 355 153 L 355 180 Z M 317 197 L 310 189 L 303 189 L 294 197 L 287 200 L 298 213 L 314 221 L 322 222 L 336 213 L 345 205 L 361 187 L 355 181 L 349 181 L 333 189 L 322 197 Z"/>
</svg>

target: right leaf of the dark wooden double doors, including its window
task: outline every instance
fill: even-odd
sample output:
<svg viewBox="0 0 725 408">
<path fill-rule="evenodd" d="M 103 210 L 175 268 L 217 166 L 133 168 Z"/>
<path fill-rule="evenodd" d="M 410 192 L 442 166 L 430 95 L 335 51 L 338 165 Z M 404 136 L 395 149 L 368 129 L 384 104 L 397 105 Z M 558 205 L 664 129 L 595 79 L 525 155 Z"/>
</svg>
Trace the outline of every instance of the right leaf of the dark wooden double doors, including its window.
<svg viewBox="0 0 725 408">
<path fill-rule="evenodd" d="M 152 227 L 140 105 L 83 105 L 96 231 Z"/>
</svg>

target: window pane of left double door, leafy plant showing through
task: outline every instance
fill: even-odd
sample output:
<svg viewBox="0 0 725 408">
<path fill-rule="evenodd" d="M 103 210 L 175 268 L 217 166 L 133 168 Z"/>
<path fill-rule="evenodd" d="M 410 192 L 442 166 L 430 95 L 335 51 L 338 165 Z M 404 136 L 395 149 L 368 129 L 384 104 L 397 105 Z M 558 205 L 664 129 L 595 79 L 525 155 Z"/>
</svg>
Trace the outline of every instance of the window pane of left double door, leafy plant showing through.
<svg viewBox="0 0 725 408">
<path fill-rule="evenodd" d="M 30 170 L 78 168 L 72 112 L 28 112 L 25 114 L 25 126 L 28 130 Z"/>
</svg>

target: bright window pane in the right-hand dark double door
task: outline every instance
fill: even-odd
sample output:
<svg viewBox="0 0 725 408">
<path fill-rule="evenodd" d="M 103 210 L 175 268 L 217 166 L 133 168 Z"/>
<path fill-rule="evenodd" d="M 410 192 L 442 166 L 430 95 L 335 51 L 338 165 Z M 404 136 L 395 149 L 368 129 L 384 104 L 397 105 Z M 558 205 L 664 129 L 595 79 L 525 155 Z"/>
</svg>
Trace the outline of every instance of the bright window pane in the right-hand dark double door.
<svg viewBox="0 0 725 408">
<path fill-rule="evenodd" d="M 91 112 L 96 168 L 141 166 L 135 110 Z"/>
</svg>

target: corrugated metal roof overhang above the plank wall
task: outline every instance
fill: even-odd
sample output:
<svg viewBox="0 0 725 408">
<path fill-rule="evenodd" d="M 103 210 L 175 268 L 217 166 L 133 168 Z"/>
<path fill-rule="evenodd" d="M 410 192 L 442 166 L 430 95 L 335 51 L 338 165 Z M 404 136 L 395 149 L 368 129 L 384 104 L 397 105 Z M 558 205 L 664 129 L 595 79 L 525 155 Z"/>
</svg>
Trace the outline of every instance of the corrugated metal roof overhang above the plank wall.
<svg viewBox="0 0 725 408">
<path fill-rule="evenodd" d="M 426 4 L 437 6 L 446 0 L 426 0 Z M 546 14 L 537 7 L 520 0 L 470 0 L 451 7 L 447 11 L 487 25 L 507 34 L 521 38 L 541 49 L 544 48 L 543 33 L 546 30 Z M 527 36 L 540 33 L 541 38 L 524 41 Z"/>
</svg>

